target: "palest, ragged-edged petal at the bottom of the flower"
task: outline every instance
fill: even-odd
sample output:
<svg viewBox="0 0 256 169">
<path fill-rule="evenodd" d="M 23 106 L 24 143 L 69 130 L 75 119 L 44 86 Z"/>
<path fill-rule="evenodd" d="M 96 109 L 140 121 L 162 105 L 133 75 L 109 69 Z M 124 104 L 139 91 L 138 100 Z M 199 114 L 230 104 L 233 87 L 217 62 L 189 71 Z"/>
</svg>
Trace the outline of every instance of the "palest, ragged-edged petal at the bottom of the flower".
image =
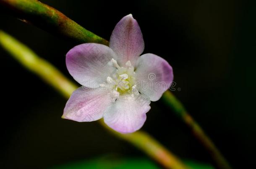
<svg viewBox="0 0 256 169">
<path fill-rule="evenodd" d="M 120 133 L 132 133 L 140 129 L 146 121 L 150 101 L 143 95 L 121 97 L 104 114 L 104 122 Z"/>
</svg>

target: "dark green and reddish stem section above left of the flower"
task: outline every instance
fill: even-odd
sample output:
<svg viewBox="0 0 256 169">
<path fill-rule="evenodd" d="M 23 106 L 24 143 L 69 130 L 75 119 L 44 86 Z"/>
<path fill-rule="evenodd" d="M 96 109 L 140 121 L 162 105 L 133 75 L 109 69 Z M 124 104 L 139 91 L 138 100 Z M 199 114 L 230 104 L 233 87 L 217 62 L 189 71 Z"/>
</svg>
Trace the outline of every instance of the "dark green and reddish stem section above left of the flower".
<svg viewBox="0 0 256 169">
<path fill-rule="evenodd" d="M 0 0 L 7 10 L 20 20 L 36 25 L 54 35 L 64 36 L 77 43 L 101 43 L 108 45 L 108 41 L 91 33 L 60 11 L 37 0 Z"/>
</svg>

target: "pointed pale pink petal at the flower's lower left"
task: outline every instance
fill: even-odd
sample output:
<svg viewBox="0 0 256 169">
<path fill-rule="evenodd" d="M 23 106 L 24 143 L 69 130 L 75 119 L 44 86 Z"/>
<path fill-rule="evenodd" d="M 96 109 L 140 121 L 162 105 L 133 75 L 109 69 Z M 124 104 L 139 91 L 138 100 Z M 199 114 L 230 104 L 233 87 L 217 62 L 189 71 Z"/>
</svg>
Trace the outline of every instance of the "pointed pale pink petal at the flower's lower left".
<svg viewBox="0 0 256 169">
<path fill-rule="evenodd" d="M 62 118 L 79 122 L 99 120 L 111 101 L 109 91 L 103 88 L 80 87 L 68 99 Z"/>
</svg>

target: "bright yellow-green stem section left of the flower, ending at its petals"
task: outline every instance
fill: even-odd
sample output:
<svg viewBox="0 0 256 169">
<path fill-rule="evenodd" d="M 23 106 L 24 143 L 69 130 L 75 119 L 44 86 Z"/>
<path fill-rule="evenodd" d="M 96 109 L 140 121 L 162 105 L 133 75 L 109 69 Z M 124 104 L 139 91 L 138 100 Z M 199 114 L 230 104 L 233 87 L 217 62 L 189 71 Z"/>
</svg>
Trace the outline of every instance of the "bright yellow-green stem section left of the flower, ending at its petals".
<svg viewBox="0 0 256 169">
<path fill-rule="evenodd" d="M 37 74 L 65 97 L 78 88 L 71 83 L 60 71 L 47 61 L 39 58 L 31 49 L 13 39 L 0 30 L 0 45 L 7 50 L 19 63 L 31 72 Z"/>
</svg>

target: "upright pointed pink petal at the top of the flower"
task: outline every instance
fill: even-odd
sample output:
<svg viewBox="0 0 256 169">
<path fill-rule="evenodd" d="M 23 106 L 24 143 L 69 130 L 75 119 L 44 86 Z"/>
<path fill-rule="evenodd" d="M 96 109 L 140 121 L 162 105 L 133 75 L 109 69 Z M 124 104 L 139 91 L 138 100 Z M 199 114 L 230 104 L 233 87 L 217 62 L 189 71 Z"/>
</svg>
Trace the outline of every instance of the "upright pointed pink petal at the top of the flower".
<svg viewBox="0 0 256 169">
<path fill-rule="evenodd" d="M 127 61 L 131 61 L 135 66 L 144 50 L 144 40 L 141 28 L 131 14 L 123 17 L 115 26 L 110 37 L 110 48 L 117 53 L 121 66 Z"/>
</svg>

